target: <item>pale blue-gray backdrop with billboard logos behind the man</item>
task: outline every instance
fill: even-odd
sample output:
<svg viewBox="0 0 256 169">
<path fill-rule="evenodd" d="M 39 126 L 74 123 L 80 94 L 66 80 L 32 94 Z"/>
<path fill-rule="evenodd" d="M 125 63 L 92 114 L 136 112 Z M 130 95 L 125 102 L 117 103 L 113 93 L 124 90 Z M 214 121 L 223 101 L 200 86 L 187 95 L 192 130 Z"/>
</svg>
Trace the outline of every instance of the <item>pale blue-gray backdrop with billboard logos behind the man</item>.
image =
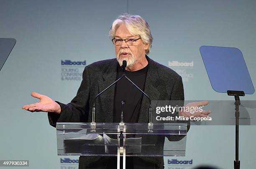
<svg viewBox="0 0 256 169">
<path fill-rule="evenodd" d="M 182 75 L 185 99 L 233 100 L 212 89 L 201 45 L 239 48 L 256 84 L 255 0 L 0 0 L 0 37 L 17 40 L 0 72 L 0 160 L 29 160 L 31 169 L 71 166 L 60 163 L 64 157 L 57 156 L 56 130 L 49 126 L 47 114 L 21 107 L 37 102 L 30 96 L 32 91 L 70 102 L 84 67 L 67 67 L 61 60 L 86 60 L 89 65 L 115 57 L 108 30 L 125 12 L 141 15 L 151 26 L 151 59 L 166 66 L 173 61 L 193 62 L 192 67 L 171 67 Z M 70 77 L 67 70 L 77 74 Z M 255 100 L 256 96 L 241 99 Z M 255 167 L 255 131 L 255 126 L 240 127 L 242 169 Z M 186 157 L 166 157 L 165 162 L 193 159 L 192 166 L 176 167 L 212 164 L 232 169 L 234 138 L 234 126 L 192 126 Z M 166 168 L 172 166 L 166 164 Z"/>
</svg>

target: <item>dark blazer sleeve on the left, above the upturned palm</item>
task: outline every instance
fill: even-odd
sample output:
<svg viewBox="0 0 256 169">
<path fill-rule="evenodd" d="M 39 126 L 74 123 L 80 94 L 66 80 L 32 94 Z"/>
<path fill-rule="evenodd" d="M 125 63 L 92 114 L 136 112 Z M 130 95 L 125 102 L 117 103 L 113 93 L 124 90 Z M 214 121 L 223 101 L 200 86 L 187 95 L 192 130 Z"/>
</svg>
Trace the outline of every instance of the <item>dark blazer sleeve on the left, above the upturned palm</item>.
<svg viewBox="0 0 256 169">
<path fill-rule="evenodd" d="M 87 122 L 90 100 L 90 75 L 88 68 L 84 68 L 82 82 L 77 95 L 68 104 L 57 102 L 61 107 L 60 114 L 48 112 L 51 126 L 56 127 L 56 122 Z"/>
</svg>

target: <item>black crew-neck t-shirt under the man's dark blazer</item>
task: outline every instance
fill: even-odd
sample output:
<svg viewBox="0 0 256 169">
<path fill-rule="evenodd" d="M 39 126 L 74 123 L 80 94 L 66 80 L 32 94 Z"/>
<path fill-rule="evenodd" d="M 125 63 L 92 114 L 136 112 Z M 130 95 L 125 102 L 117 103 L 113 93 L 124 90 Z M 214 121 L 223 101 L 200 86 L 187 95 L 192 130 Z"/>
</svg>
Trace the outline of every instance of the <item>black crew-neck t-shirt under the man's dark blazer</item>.
<svg viewBox="0 0 256 169">
<path fill-rule="evenodd" d="M 125 75 L 141 90 L 144 90 L 146 74 L 148 65 L 141 70 L 127 71 Z M 117 79 L 123 75 L 121 67 L 118 65 Z M 122 109 L 122 100 L 125 101 L 123 106 L 123 122 L 125 123 L 136 123 L 141 110 L 141 102 L 143 93 L 137 89 L 129 80 L 125 77 L 121 79 L 115 85 L 115 97 L 114 97 L 114 117 L 113 122 L 120 122 L 120 115 Z"/>
</svg>

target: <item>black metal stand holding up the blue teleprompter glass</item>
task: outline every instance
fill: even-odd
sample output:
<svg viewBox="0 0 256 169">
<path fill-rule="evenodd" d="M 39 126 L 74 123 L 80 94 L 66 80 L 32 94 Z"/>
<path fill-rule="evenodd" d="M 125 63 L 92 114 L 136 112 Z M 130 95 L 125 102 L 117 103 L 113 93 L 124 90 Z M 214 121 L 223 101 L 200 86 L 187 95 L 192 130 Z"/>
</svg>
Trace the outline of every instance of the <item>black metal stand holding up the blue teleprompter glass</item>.
<svg viewBox="0 0 256 169">
<path fill-rule="evenodd" d="M 240 169 L 240 160 L 238 160 L 238 140 L 239 140 L 239 105 L 241 104 L 239 96 L 245 96 L 243 91 L 227 91 L 229 96 L 235 97 L 235 116 L 236 116 L 236 160 L 234 160 L 234 169 Z"/>
</svg>

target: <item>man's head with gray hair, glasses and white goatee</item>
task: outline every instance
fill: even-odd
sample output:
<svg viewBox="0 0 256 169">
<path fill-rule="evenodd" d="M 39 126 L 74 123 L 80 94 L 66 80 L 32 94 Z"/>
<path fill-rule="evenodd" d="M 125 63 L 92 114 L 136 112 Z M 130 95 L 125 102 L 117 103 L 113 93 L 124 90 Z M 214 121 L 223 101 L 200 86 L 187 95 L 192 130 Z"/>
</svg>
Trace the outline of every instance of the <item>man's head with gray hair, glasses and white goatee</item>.
<svg viewBox="0 0 256 169">
<path fill-rule="evenodd" d="M 150 52 L 153 38 L 146 20 L 138 15 L 121 15 L 113 22 L 109 34 L 119 65 L 123 60 L 127 61 L 128 68 L 140 69 L 147 65 L 145 54 Z"/>
</svg>

